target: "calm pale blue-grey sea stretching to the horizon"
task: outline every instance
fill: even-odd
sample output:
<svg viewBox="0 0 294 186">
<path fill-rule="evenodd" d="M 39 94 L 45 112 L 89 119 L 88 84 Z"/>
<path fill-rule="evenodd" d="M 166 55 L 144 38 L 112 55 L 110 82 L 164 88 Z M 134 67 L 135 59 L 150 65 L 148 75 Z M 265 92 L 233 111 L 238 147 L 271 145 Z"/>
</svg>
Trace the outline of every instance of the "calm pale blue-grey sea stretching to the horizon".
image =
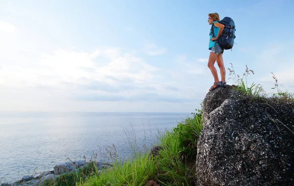
<svg viewBox="0 0 294 186">
<path fill-rule="evenodd" d="M 0 112 L 0 183 L 77 160 L 128 159 L 191 113 Z"/>
</svg>

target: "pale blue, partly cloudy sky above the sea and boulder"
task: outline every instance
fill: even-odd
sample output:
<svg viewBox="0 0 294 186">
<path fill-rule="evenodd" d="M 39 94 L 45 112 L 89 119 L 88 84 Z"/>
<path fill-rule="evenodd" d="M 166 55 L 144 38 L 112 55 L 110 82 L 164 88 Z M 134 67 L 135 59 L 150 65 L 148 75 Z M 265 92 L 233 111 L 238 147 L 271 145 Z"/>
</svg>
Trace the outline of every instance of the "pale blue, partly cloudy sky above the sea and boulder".
<svg viewBox="0 0 294 186">
<path fill-rule="evenodd" d="M 213 84 L 208 13 L 246 82 L 294 92 L 293 0 L 0 0 L 0 111 L 193 112 Z M 219 68 L 215 64 L 218 72 Z M 232 69 L 232 68 L 231 68 Z M 230 78 L 230 79 L 229 79 Z"/>
</svg>

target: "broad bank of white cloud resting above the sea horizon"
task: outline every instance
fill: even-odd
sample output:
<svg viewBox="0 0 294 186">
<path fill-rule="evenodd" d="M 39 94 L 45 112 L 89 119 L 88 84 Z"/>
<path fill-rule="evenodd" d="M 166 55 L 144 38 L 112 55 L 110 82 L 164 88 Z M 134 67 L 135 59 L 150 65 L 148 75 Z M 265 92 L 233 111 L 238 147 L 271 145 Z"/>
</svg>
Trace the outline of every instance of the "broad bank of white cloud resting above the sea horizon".
<svg viewBox="0 0 294 186">
<path fill-rule="evenodd" d="M 198 94 L 191 91 L 195 91 L 193 86 L 173 81 L 165 69 L 118 48 L 100 47 L 93 52 L 60 49 L 38 56 L 36 60 L 30 55 L 23 65 L 1 64 L 0 97 L 5 98 L 3 105 L 11 106 L 0 106 L 0 110 L 166 111 L 162 105 L 184 105 Z M 184 69 L 191 68 L 190 62 L 184 62 Z M 105 110 L 102 103 L 114 106 Z M 147 103 L 158 108 L 152 109 L 150 104 L 136 109 Z"/>
</svg>

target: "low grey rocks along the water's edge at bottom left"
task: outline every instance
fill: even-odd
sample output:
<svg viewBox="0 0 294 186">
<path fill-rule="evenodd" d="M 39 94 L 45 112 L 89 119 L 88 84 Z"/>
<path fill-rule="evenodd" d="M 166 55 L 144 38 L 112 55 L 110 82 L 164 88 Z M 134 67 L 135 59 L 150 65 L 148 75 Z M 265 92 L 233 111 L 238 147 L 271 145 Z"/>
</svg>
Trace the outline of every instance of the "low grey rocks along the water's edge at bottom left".
<svg viewBox="0 0 294 186">
<path fill-rule="evenodd" d="M 67 172 L 76 172 L 78 169 L 89 165 L 89 162 L 84 160 L 69 161 L 60 163 L 54 166 L 53 170 L 45 171 L 41 174 L 25 175 L 23 178 L 15 183 L 3 183 L 0 186 L 43 186 L 46 180 L 53 181 L 55 178 Z M 103 168 L 111 167 L 108 163 L 94 162 L 98 171 Z"/>
</svg>

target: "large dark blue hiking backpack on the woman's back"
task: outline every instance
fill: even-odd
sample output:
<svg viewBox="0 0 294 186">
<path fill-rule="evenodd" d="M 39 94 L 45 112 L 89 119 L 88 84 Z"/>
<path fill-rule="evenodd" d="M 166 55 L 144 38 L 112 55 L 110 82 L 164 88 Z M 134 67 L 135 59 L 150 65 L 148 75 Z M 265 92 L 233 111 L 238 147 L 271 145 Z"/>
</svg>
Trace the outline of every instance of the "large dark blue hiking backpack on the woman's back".
<svg viewBox="0 0 294 186">
<path fill-rule="evenodd" d="M 221 48 L 225 50 L 231 49 L 234 46 L 234 39 L 236 38 L 235 22 L 233 21 L 232 18 L 224 17 L 220 21 L 220 23 L 224 25 L 224 28 L 222 30 L 221 36 L 216 42 L 219 43 Z M 213 25 L 211 26 L 211 32 L 212 32 L 212 35 L 214 36 Z"/>
</svg>

